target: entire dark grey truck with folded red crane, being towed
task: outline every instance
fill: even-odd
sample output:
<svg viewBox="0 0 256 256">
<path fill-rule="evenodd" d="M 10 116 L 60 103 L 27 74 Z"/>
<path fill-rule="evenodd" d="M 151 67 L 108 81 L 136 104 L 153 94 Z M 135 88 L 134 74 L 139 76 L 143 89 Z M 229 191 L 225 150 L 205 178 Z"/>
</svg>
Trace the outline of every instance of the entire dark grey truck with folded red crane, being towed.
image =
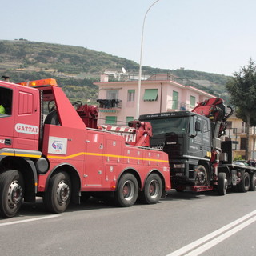
<svg viewBox="0 0 256 256">
<path fill-rule="evenodd" d="M 198 103 L 192 111 L 144 114 L 150 122 L 150 146 L 169 155 L 172 188 L 177 191 L 206 191 L 228 187 L 241 192 L 255 190 L 256 169 L 232 163 L 232 142 L 222 142 L 227 119 L 233 110 L 221 98 Z"/>
</svg>

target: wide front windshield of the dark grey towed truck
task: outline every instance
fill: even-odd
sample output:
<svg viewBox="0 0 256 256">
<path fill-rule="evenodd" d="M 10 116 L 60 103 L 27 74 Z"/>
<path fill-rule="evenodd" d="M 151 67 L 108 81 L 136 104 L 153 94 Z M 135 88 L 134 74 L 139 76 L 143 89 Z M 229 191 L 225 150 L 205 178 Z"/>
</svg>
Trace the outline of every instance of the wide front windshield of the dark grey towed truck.
<svg viewBox="0 0 256 256">
<path fill-rule="evenodd" d="M 145 121 L 151 123 L 153 135 L 169 134 L 171 132 L 185 134 L 188 129 L 189 117 L 147 119 Z"/>
</svg>

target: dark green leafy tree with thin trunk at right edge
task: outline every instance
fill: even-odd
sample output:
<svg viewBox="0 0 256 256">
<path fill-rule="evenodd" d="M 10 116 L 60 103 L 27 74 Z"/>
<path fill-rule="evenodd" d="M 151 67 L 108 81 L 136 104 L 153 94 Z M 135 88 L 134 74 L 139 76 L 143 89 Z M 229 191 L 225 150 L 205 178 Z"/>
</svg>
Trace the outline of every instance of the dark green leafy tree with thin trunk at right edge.
<svg viewBox="0 0 256 256">
<path fill-rule="evenodd" d="M 256 66 L 250 58 L 249 64 L 234 73 L 226 88 L 230 103 L 238 109 L 238 116 L 246 122 L 246 159 L 249 158 L 249 128 L 255 125 L 256 114 Z"/>
</svg>

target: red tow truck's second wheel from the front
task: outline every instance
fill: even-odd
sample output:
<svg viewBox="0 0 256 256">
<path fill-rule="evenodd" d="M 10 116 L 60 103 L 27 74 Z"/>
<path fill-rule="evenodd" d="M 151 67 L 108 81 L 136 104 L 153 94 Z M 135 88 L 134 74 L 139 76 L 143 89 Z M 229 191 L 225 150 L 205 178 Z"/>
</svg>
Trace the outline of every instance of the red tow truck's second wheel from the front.
<svg viewBox="0 0 256 256">
<path fill-rule="evenodd" d="M 48 189 L 43 195 L 46 210 L 59 214 L 66 210 L 71 198 L 70 176 L 59 172 L 50 178 Z"/>
</svg>

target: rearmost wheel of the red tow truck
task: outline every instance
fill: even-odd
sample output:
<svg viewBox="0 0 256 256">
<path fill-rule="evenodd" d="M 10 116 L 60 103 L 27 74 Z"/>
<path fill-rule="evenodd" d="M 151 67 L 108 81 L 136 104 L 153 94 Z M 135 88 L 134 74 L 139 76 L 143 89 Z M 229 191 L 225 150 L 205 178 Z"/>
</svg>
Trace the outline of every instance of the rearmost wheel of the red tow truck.
<svg viewBox="0 0 256 256">
<path fill-rule="evenodd" d="M 144 190 L 139 193 L 139 201 L 147 204 L 159 202 L 162 196 L 162 179 L 158 174 L 150 174 L 146 179 Z"/>
</svg>

